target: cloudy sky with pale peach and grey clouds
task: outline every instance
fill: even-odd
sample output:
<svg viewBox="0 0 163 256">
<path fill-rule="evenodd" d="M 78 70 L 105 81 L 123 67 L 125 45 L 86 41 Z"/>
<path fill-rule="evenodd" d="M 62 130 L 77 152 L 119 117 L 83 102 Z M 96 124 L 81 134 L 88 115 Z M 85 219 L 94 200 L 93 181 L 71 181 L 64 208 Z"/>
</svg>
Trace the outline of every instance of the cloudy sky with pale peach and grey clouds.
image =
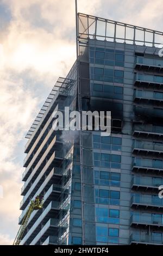
<svg viewBox="0 0 163 256">
<path fill-rule="evenodd" d="M 78 11 L 163 31 L 162 0 L 78 0 Z M 1 245 L 18 230 L 24 136 L 76 59 L 75 36 L 74 0 L 0 0 Z"/>
</svg>

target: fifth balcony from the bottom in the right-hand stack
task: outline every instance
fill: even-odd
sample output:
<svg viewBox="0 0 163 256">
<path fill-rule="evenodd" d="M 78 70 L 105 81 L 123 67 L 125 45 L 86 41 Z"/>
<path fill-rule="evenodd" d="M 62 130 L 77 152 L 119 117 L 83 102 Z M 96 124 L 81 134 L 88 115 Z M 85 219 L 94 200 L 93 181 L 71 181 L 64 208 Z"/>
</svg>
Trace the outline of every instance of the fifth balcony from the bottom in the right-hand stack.
<svg viewBox="0 0 163 256">
<path fill-rule="evenodd" d="M 163 163 L 162 160 L 134 157 L 132 170 L 133 172 L 160 174 L 163 173 Z"/>
</svg>

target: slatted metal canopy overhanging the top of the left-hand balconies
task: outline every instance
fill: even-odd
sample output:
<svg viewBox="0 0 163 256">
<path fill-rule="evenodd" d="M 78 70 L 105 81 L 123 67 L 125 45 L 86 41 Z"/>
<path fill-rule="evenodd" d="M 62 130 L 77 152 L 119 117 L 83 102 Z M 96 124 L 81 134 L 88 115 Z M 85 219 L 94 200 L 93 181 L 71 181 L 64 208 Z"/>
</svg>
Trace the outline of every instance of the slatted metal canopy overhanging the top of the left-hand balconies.
<svg viewBox="0 0 163 256">
<path fill-rule="evenodd" d="M 32 136 L 32 134 L 35 131 L 37 125 L 40 122 L 40 120 L 42 119 L 43 115 L 47 111 L 47 108 L 51 104 L 55 94 L 57 92 L 59 92 L 60 94 L 67 94 L 68 92 L 70 92 L 70 89 L 72 88 L 73 83 L 74 83 L 74 80 L 71 80 L 71 79 L 68 79 L 68 78 L 59 77 L 57 83 L 55 83 L 55 86 L 51 90 L 51 93 L 48 95 L 45 103 L 41 107 L 39 114 L 37 114 L 37 117 L 34 120 L 32 126 L 30 126 L 30 129 L 27 132 L 27 135 L 25 136 L 25 138 L 29 139 L 30 136 Z"/>
</svg>

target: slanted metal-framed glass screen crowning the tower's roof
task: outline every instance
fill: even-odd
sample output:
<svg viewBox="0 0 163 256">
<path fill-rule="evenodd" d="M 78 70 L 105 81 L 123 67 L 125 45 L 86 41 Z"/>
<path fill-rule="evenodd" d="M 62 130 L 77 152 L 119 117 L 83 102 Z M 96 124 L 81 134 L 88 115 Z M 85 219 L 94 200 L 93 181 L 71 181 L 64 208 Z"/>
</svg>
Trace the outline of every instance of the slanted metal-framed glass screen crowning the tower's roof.
<svg viewBox="0 0 163 256">
<path fill-rule="evenodd" d="M 78 38 L 159 47 L 163 32 L 78 13 Z"/>
</svg>

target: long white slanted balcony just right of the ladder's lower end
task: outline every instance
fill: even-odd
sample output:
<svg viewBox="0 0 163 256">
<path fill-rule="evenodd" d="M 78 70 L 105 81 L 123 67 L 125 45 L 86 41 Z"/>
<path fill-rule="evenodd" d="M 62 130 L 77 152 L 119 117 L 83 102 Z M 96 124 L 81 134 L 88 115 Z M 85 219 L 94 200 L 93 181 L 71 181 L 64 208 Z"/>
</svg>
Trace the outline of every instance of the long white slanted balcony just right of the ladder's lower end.
<svg viewBox="0 0 163 256">
<path fill-rule="evenodd" d="M 28 233 L 23 237 L 21 241 L 21 245 L 26 243 L 26 241 L 30 240 L 33 234 L 38 234 L 40 232 L 40 224 L 42 221 L 46 221 L 49 217 L 49 215 L 52 215 L 53 209 L 56 208 L 55 202 L 51 202 L 48 204 L 45 210 L 43 210 L 42 214 L 39 218 L 37 218 L 36 222 L 33 224 L 32 227 L 28 230 Z M 58 219 L 55 219 L 55 227 L 58 227 Z"/>
</svg>

